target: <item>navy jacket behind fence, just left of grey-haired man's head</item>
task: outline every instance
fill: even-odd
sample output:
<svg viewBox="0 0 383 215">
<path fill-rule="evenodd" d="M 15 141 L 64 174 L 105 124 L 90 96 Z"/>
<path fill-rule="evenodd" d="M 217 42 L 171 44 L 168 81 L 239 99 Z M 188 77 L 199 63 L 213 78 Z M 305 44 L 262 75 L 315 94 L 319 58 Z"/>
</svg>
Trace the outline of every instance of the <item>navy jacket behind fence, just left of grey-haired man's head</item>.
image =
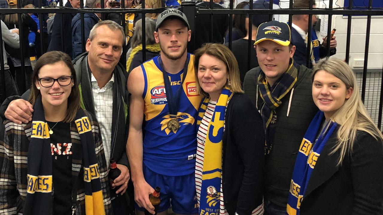
<svg viewBox="0 0 383 215">
<path fill-rule="evenodd" d="M 99 20 L 100 18 L 94 13 L 84 14 L 85 41 L 89 37 L 90 30 Z M 80 13 L 77 13 L 72 19 L 72 48 L 72 59 L 74 59 L 82 53 Z"/>
</svg>

